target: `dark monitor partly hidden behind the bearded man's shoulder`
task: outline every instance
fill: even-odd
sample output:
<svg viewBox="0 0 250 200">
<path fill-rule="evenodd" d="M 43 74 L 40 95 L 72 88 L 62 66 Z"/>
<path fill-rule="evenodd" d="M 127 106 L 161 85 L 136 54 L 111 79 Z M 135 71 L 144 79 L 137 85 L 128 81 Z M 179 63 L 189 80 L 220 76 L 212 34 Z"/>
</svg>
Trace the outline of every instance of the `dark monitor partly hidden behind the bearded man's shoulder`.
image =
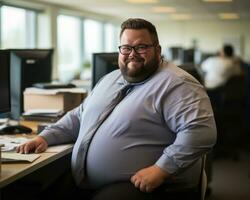
<svg viewBox="0 0 250 200">
<path fill-rule="evenodd" d="M 94 53 L 92 66 L 92 88 L 106 74 L 118 69 L 118 53 Z"/>
</svg>

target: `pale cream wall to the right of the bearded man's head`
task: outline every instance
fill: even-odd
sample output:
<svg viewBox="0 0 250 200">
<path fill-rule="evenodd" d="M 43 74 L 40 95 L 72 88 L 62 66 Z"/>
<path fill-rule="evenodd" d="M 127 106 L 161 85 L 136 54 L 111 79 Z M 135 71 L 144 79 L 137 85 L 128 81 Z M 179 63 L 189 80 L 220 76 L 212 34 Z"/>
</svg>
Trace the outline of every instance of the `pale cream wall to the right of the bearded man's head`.
<svg viewBox="0 0 250 200">
<path fill-rule="evenodd" d="M 196 40 L 198 48 L 216 52 L 224 42 L 232 42 L 236 53 L 250 61 L 249 21 L 182 21 L 156 23 L 163 51 L 170 46 L 192 47 Z"/>
</svg>

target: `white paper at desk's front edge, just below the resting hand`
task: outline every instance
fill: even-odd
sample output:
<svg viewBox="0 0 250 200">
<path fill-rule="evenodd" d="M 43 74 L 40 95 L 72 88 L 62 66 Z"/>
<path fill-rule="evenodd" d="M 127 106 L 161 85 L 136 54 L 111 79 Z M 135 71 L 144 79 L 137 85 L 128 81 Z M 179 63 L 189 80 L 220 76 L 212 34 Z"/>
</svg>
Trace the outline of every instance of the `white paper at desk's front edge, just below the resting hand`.
<svg viewBox="0 0 250 200">
<path fill-rule="evenodd" d="M 16 152 L 2 152 L 1 161 L 2 162 L 18 162 L 18 161 L 26 161 L 33 162 L 41 155 L 39 154 L 20 154 Z"/>
</svg>

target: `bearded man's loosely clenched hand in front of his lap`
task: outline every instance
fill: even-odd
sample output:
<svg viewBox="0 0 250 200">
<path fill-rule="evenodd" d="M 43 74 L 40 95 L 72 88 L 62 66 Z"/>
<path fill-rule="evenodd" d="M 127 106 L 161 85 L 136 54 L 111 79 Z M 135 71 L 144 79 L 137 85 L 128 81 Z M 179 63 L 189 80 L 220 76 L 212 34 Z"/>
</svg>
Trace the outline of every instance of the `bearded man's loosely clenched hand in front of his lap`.
<svg viewBox="0 0 250 200">
<path fill-rule="evenodd" d="M 156 165 L 141 169 L 131 177 L 131 182 L 142 192 L 152 192 L 160 186 L 168 173 Z"/>
</svg>

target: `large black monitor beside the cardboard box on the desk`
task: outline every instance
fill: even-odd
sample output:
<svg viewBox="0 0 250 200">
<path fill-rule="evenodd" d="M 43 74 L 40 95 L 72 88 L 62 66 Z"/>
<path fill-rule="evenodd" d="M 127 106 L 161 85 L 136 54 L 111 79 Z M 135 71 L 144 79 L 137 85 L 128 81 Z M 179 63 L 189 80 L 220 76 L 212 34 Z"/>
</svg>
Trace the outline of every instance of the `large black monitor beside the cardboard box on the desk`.
<svg viewBox="0 0 250 200">
<path fill-rule="evenodd" d="M 10 117 L 12 119 L 18 120 L 21 116 L 21 113 L 24 111 L 23 108 L 23 91 L 25 87 L 32 87 L 32 84 L 35 83 L 34 77 L 31 79 L 27 79 L 30 77 L 32 73 L 28 70 L 27 76 L 27 65 L 31 64 L 28 61 L 36 60 L 40 63 L 46 63 L 49 61 L 48 67 L 49 71 L 44 71 L 43 75 L 39 74 L 40 77 L 48 77 L 42 78 L 44 82 L 51 82 L 53 76 L 53 52 L 52 48 L 48 49 L 38 49 L 38 48 L 26 48 L 26 49 L 6 49 L 9 55 L 9 66 L 10 66 L 10 99 L 11 99 L 11 113 Z M 41 53 L 44 52 L 45 54 Z M 44 60 L 44 61 L 43 61 Z M 26 62 L 26 63 L 25 63 Z M 36 65 L 36 64 L 35 64 Z M 47 74 L 44 76 L 44 74 Z M 41 82 L 37 80 L 37 82 Z M 31 81 L 32 80 L 32 81 Z"/>
</svg>

